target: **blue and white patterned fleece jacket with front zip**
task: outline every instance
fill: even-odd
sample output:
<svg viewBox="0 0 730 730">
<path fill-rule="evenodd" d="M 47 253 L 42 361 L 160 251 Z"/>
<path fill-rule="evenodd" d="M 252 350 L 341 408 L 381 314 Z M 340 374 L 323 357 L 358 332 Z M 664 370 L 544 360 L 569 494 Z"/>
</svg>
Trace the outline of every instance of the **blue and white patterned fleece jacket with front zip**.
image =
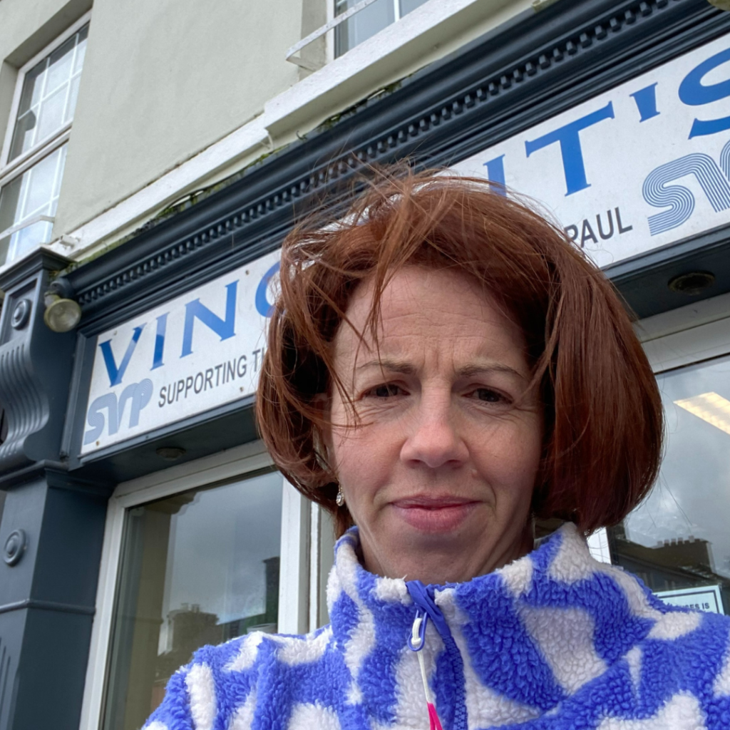
<svg viewBox="0 0 730 730">
<path fill-rule="evenodd" d="M 730 618 L 660 602 L 571 524 L 452 585 L 378 577 L 359 554 L 353 529 L 328 626 L 202 648 L 145 729 L 429 730 L 429 692 L 444 730 L 730 730 Z"/>
</svg>

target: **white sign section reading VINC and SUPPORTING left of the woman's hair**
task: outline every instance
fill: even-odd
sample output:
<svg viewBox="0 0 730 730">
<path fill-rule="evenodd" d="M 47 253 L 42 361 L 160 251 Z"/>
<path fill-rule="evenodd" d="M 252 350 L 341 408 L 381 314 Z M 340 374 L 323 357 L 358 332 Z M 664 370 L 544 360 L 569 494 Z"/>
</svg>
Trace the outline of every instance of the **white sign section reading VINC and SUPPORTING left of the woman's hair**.
<svg viewBox="0 0 730 730">
<path fill-rule="evenodd" d="M 99 335 L 81 453 L 255 391 L 280 252 Z"/>
</svg>

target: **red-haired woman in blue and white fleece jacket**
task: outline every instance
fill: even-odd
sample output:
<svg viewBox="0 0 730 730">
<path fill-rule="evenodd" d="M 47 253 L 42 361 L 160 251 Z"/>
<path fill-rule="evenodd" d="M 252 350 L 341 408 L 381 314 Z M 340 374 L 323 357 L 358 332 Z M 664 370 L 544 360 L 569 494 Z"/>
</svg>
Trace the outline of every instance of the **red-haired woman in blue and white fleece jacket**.
<svg viewBox="0 0 730 730">
<path fill-rule="evenodd" d="M 661 404 L 561 231 L 422 174 L 294 231 L 281 271 L 258 418 L 344 534 L 331 625 L 200 650 L 147 730 L 730 728 L 730 621 L 588 552 L 656 477 Z M 537 547 L 536 518 L 564 520 Z"/>
</svg>

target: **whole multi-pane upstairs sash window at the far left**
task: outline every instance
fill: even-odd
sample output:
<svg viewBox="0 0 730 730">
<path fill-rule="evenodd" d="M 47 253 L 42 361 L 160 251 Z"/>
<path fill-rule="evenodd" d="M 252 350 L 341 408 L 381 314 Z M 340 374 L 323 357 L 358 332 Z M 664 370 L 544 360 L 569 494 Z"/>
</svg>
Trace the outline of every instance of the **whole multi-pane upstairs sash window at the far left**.
<svg viewBox="0 0 730 730">
<path fill-rule="evenodd" d="M 88 22 L 69 29 L 18 74 L 0 158 L 0 265 L 50 241 L 87 37 Z"/>
</svg>

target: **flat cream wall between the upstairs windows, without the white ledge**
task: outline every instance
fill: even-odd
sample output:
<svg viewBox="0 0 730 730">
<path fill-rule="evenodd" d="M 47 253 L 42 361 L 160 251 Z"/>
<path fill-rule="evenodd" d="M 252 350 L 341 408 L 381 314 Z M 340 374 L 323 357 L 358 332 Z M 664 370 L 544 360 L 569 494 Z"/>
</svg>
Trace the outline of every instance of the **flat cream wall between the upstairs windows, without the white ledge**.
<svg viewBox="0 0 730 730">
<path fill-rule="evenodd" d="M 96 0 L 55 235 L 260 114 L 301 24 L 301 0 Z"/>
</svg>

